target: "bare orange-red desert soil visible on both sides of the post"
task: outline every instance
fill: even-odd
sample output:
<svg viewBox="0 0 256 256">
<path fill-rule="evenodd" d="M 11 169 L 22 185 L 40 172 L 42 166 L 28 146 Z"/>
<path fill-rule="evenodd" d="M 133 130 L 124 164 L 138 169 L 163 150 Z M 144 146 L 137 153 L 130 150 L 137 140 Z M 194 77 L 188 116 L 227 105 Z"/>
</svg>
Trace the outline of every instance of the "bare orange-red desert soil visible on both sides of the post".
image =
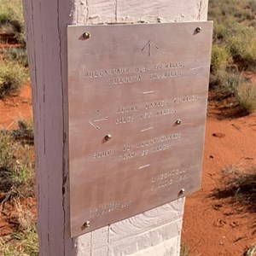
<svg viewBox="0 0 256 256">
<path fill-rule="evenodd" d="M 20 94 L 0 101 L 0 129 L 15 129 L 20 118 L 32 118 L 29 84 Z M 230 104 L 211 100 L 207 113 L 207 130 L 201 190 L 186 198 L 183 218 L 183 247 L 189 256 L 240 256 L 256 242 L 256 212 L 230 204 L 228 199 L 212 197 L 221 188 L 222 170 L 256 166 L 256 114 L 236 116 Z M 24 201 L 35 211 L 35 200 Z M 15 231 L 15 211 L 11 205 L 0 214 L 0 236 Z"/>
</svg>

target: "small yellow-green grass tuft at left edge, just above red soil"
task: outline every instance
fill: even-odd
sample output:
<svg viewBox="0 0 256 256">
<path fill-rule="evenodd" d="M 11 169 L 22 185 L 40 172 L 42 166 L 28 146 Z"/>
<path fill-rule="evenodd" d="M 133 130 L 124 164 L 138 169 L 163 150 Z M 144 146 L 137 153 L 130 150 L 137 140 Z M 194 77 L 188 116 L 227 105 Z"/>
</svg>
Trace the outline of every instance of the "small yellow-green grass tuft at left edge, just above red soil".
<svg viewBox="0 0 256 256">
<path fill-rule="evenodd" d="M 20 89 L 25 82 L 27 70 L 14 62 L 0 61 L 0 99 Z"/>
</svg>

